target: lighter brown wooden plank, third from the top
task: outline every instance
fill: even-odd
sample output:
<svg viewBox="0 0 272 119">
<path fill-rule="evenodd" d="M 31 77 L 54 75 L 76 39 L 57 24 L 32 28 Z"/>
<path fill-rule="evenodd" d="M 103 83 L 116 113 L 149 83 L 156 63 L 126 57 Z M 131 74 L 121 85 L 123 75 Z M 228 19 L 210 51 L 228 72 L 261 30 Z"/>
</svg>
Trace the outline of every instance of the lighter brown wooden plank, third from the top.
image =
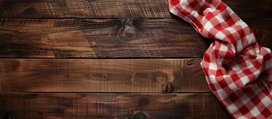
<svg viewBox="0 0 272 119">
<path fill-rule="evenodd" d="M 6 92 L 211 92 L 201 59 L 0 59 Z"/>
</svg>

